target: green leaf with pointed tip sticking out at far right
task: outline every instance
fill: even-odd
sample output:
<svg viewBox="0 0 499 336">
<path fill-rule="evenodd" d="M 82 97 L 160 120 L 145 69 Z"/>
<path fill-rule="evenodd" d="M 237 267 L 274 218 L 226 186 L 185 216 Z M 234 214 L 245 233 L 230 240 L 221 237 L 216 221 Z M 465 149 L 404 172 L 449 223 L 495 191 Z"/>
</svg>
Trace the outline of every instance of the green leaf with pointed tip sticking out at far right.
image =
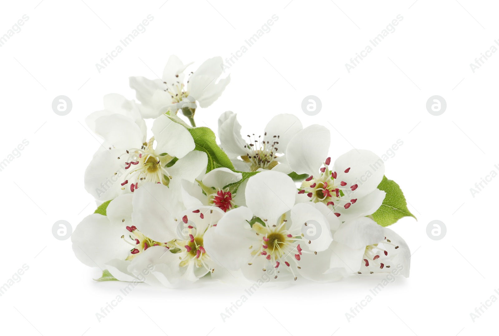
<svg viewBox="0 0 499 336">
<path fill-rule="evenodd" d="M 383 204 L 370 217 L 381 226 L 396 223 L 400 218 L 411 216 L 417 218 L 407 209 L 407 202 L 400 186 L 393 180 L 383 176 L 378 189 L 386 192 Z"/>
</svg>

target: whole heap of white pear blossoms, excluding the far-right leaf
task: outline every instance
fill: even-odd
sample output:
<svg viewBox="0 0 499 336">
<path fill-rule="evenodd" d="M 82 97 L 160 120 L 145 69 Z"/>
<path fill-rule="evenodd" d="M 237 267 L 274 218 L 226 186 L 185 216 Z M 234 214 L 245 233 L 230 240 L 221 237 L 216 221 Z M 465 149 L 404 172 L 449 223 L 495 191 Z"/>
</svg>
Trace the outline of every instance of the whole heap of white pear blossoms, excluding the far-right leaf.
<svg viewBox="0 0 499 336">
<path fill-rule="evenodd" d="M 254 282 L 267 270 L 283 283 L 394 268 L 408 277 L 408 245 L 373 217 L 387 195 L 376 154 L 342 154 L 326 127 L 288 113 L 250 134 L 232 111 L 216 132 L 196 127 L 198 105 L 230 83 L 221 64 L 186 74 L 192 63 L 171 56 L 161 79 L 130 78 L 137 101 L 108 94 L 86 118 L 102 138 L 84 176 L 98 208 L 71 236 L 76 257 L 101 279 L 167 288 Z"/>
</svg>

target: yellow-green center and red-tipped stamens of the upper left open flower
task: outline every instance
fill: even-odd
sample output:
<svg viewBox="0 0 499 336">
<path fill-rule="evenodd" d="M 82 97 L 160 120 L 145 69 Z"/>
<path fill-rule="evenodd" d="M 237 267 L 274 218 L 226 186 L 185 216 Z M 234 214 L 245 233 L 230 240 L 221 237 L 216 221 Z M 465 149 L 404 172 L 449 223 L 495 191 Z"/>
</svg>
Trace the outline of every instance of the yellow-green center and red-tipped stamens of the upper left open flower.
<svg viewBox="0 0 499 336">
<path fill-rule="evenodd" d="M 129 184 L 130 190 L 133 192 L 139 187 L 139 181 L 141 183 L 154 182 L 168 185 L 172 176 L 165 167 L 173 158 L 169 155 L 158 155 L 153 149 L 153 142 L 154 138 L 151 138 L 140 149 L 132 148 L 126 151 L 128 157 L 125 162 L 125 169 L 128 174 L 125 181 L 121 183 L 122 190 L 125 189 L 125 184 Z M 121 159 L 121 157 L 118 159 Z"/>
</svg>

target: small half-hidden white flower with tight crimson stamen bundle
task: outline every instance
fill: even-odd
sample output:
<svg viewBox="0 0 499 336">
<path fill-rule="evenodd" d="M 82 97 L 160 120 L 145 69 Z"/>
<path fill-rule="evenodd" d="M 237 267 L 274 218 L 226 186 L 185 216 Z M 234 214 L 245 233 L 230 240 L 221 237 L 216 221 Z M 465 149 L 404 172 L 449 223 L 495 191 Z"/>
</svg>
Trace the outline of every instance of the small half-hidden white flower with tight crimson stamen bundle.
<svg viewBox="0 0 499 336">
<path fill-rule="evenodd" d="M 243 175 L 229 168 L 215 168 L 207 172 L 201 181 L 182 181 L 182 199 L 187 207 L 215 205 L 224 212 L 235 204 L 236 193 L 226 185 L 240 181 Z M 204 193 L 203 193 L 204 191 Z"/>
</svg>

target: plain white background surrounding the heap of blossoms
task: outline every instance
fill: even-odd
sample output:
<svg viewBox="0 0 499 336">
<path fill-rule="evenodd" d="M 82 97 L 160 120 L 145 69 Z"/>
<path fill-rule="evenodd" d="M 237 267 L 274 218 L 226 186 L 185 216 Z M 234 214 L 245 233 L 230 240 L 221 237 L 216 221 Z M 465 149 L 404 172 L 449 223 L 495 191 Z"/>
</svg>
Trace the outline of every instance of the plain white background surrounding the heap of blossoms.
<svg viewBox="0 0 499 336">
<path fill-rule="evenodd" d="M 4 2 L 0 34 L 29 16 L 0 47 L 0 161 L 24 139 L 29 142 L 0 171 L 0 285 L 23 264 L 29 266 L 0 297 L 4 332 L 464 336 L 494 326 L 499 303 L 475 322 L 470 313 L 492 295 L 499 298 L 494 292 L 499 178 L 475 197 L 470 188 L 491 170 L 499 171 L 494 167 L 499 53 L 475 73 L 470 63 L 499 39 L 495 1 Z M 95 63 L 148 14 L 154 20 L 147 30 L 99 73 Z M 297 281 L 284 289 L 263 288 L 225 322 L 220 314 L 246 294 L 244 287 L 144 285 L 99 322 L 95 314 L 126 284 L 94 282 L 97 272 L 74 257 L 70 240 L 56 240 L 51 231 L 60 219 L 74 228 L 95 208 L 83 172 L 99 143 L 84 118 L 103 108 L 107 93 L 134 99 L 128 77 L 156 78 L 171 54 L 195 61 L 190 70 L 209 57 L 230 57 L 273 14 L 278 20 L 271 30 L 226 72 L 232 81 L 222 97 L 197 111 L 198 125 L 216 130 L 218 116 L 232 110 L 244 132 L 258 133 L 271 116 L 293 113 L 304 126 L 330 128 L 333 160 L 352 147 L 381 156 L 402 140 L 385 165 L 418 217 L 391 227 L 414 253 L 411 277 L 398 277 L 350 321 L 345 313 L 370 295 L 379 279 L 353 276 L 330 284 Z M 398 14 L 403 20 L 396 30 L 348 73 L 345 63 Z M 66 116 L 52 111 L 59 95 L 72 100 Z M 322 101 L 316 116 L 301 110 L 308 95 Z M 441 116 L 426 110 L 433 95 L 447 101 Z M 447 226 L 438 241 L 426 233 L 435 219 Z"/>
</svg>

